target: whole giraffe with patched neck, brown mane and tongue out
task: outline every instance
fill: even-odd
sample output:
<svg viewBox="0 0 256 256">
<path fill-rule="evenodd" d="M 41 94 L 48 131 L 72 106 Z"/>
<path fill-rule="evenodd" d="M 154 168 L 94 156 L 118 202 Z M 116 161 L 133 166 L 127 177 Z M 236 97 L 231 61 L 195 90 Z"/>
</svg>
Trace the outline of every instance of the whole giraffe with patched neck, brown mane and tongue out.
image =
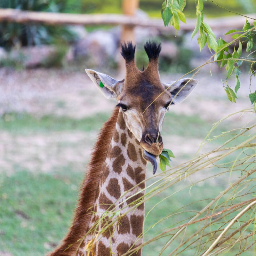
<svg viewBox="0 0 256 256">
<path fill-rule="evenodd" d="M 49 256 L 121 256 L 131 250 L 127 255 L 142 255 L 146 165 L 150 162 L 156 171 L 166 109 L 184 100 L 198 81 L 161 83 L 161 43 L 144 45 L 149 62 L 142 71 L 135 65 L 135 45 L 124 43 L 121 48 L 125 79 L 85 69 L 100 92 L 118 104 L 94 146 L 73 224 Z"/>
</svg>

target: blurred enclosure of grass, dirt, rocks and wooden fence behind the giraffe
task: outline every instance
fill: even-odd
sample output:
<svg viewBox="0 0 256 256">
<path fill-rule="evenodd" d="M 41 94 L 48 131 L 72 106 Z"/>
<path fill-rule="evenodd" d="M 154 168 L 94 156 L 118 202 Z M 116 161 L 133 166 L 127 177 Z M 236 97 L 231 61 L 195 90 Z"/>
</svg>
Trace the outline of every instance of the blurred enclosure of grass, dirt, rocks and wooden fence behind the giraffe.
<svg viewBox="0 0 256 256">
<path fill-rule="evenodd" d="M 178 79 L 212 55 L 207 47 L 199 51 L 196 36 L 191 41 L 196 24 L 195 1 L 187 0 L 184 9 L 187 24 L 181 24 L 177 33 L 171 27 L 164 28 L 162 1 L 0 1 L 1 256 L 43 255 L 66 234 L 92 145 L 116 104 L 115 100 L 107 100 L 101 95 L 84 68 L 107 73 L 116 79 L 124 78 L 124 60 L 120 55 L 120 42 L 124 40 L 136 43 L 138 68 L 148 63 L 143 44 L 148 39 L 162 42 L 159 71 L 163 82 Z M 224 8 L 206 1 L 204 17 L 215 35 L 226 41 L 232 38 L 223 34 L 229 29 L 242 28 L 245 21 L 228 10 L 256 11 L 253 0 L 214 2 Z M 6 10 L 10 11 L 9 16 L 4 12 Z M 29 19 L 29 12 L 21 13 L 20 10 L 92 16 L 87 16 L 84 24 L 78 24 L 83 23 L 79 21 L 76 25 L 72 21 L 75 16 L 56 22 L 58 16 L 46 15 L 48 20 L 38 22 Z M 127 15 L 130 15 L 132 25 L 127 22 Z M 40 17 L 44 19 L 43 16 Z M 90 19 L 95 21 L 94 24 Z M 199 85 L 193 94 L 180 105 L 170 108 L 162 135 L 164 147 L 176 156 L 172 166 L 195 156 L 212 124 L 221 117 L 251 107 L 249 66 L 244 65 L 241 69 L 241 89 L 236 104 L 228 101 L 222 88 L 225 70 L 208 65 L 196 76 Z M 231 79 L 230 86 L 234 84 Z M 254 91 L 255 80 L 251 84 Z M 232 116 L 219 126 L 217 132 L 246 123 L 248 118 L 246 115 Z M 150 175 L 151 171 L 148 171 Z M 189 185 L 193 180 L 184 182 Z M 170 197 L 167 203 L 159 204 L 157 210 L 151 212 L 145 228 L 170 209 L 188 204 L 193 196 L 200 200 L 208 193 L 211 197 L 226 185 L 218 179 L 208 180 L 195 185 L 190 194 L 184 190 L 184 194 Z M 146 204 L 146 212 L 176 189 L 173 186 L 152 198 Z M 201 210 L 203 205 L 202 201 L 198 202 L 193 210 Z M 155 232 L 154 228 L 150 229 L 145 239 L 155 236 Z M 157 255 L 163 245 L 161 241 L 149 244 L 143 249 L 143 255 Z"/>
</svg>

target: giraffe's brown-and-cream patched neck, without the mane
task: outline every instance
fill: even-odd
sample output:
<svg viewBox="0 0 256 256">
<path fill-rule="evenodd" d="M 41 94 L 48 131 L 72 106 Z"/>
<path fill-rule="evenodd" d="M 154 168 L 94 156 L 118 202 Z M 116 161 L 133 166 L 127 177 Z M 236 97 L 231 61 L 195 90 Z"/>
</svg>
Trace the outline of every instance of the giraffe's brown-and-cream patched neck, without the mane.
<svg viewBox="0 0 256 256">
<path fill-rule="evenodd" d="M 93 235 L 85 238 L 81 255 L 108 256 L 114 253 L 119 256 L 129 248 L 142 243 L 144 204 L 140 204 L 130 212 L 129 209 L 134 207 L 133 201 L 145 194 L 141 189 L 145 188 L 146 164 L 139 141 L 127 129 L 120 110 L 95 197 L 90 227 L 97 223 L 97 230 L 94 230 Z M 139 185 L 136 186 L 137 184 Z M 133 188 L 134 186 L 136 187 Z M 125 196 L 121 196 L 124 192 L 126 192 Z M 124 216 L 97 237 L 97 233 L 111 222 L 110 216 L 105 214 L 102 218 L 102 214 L 113 208 L 119 211 L 120 216 Z M 97 241 L 94 240 L 95 237 Z M 140 249 L 132 255 L 140 256 L 141 253 Z"/>
</svg>

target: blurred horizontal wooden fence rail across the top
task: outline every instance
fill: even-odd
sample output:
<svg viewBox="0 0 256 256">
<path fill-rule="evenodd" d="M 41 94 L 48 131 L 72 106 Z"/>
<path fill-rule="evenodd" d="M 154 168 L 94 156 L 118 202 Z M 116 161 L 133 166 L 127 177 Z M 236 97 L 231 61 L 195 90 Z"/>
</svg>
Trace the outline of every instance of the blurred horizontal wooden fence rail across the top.
<svg viewBox="0 0 256 256">
<path fill-rule="evenodd" d="M 256 18 L 255 14 L 247 16 Z M 244 25 L 245 17 L 232 16 L 224 18 L 205 19 L 213 30 L 228 30 L 230 28 L 241 28 Z M 169 32 L 175 31 L 174 28 L 164 28 L 163 20 L 161 19 L 141 19 L 136 16 L 122 14 L 71 14 L 71 13 L 56 13 L 56 12 L 31 12 L 17 9 L 1 9 L 0 22 L 17 22 L 17 23 L 43 23 L 47 25 L 128 25 L 140 27 L 152 27 L 161 30 L 168 29 Z M 195 19 L 187 19 L 187 24 L 180 23 L 180 30 L 194 30 L 196 24 Z"/>
</svg>

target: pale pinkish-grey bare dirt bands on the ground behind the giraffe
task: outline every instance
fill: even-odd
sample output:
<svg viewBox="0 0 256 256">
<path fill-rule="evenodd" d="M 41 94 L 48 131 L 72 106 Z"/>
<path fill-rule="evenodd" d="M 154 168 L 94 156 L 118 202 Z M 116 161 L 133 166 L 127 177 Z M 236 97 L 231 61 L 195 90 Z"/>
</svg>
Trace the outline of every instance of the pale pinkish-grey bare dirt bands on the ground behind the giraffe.
<svg viewBox="0 0 256 256">
<path fill-rule="evenodd" d="M 163 81 L 170 82 L 180 76 L 165 74 Z M 221 78 L 224 76 L 217 73 L 210 76 L 209 72 L 198 74 L 199 85 L 195 91 L 181 104 L 172 106 L 171 111 L 186 116 L 197 115 L 213 124 L 225 115 L 250 108 L 248 74 L 240 75 L 241 89 L 236 104 L 228 101 L 222 88 Z M 110 113 L 115 104 L 115 100 L 104 98 L 83 70 L 68 72 L 40 68 L 12 71 L 0 68 L 0 116 L 9 112 L 26 112 L 37 117 L 55 115 L 80 119 L 96 113 Z M 236 115 L 232 118 L 234 122 L 244 122 L 248 117 Z M 72 165 L 82 171 L 96 136 L 97 131 L 61 131 L 26 136 L 0 130 L 1 170 L 8 173 L 19 169 L 51 172 Z M 183 160 L 184 155 L 195 154 L 202 141 L 190 138 L 188 142 L 183 136 L 171 134 L 165 137 L 165 145 L 175 152 L 177 163 Z"/>
</svg>

